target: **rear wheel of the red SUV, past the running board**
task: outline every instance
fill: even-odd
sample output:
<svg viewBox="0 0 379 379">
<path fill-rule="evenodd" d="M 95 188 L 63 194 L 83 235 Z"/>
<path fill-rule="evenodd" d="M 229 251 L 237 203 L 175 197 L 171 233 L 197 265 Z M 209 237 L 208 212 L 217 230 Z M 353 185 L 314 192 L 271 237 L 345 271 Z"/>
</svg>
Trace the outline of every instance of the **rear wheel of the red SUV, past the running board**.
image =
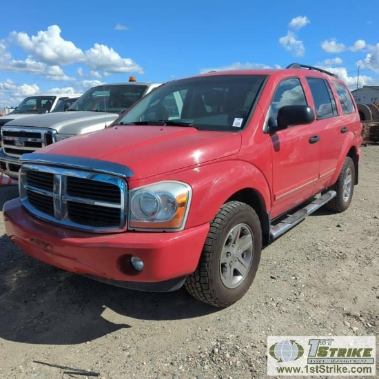
<svg viewBox="0 0 379 379">
<path fill-rule="evenodd" d="M 353 197 L 355 178 L 356 169 L 354 161 L 347 156 L 336 184 L 331 187 L 331 189 L 337 192 L 337 195 L 325 205 L 327 209 L 340 213 L 349 207 L 351 198 Z"/>
</svg>

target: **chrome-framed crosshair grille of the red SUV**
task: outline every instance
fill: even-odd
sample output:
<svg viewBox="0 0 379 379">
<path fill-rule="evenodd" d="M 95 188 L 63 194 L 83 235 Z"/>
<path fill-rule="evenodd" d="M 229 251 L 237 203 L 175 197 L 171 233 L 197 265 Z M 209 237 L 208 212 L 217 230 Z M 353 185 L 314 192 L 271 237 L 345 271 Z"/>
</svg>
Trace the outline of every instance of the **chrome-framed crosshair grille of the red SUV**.
<svg viewBox="0 0 379 379">
<path fill-rule="evenodd" d="M 126 229 L 127 183 L 112 174 L 24 164 L 21 202 L 46 221 L 87 232 Z"/>
</svg>

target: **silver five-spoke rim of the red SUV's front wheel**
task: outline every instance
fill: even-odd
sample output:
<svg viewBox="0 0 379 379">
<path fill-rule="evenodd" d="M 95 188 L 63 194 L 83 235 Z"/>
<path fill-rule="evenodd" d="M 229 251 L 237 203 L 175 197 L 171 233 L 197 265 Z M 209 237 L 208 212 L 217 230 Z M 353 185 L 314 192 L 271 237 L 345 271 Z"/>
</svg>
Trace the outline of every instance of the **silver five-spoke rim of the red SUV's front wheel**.
<svg viewBox="0 0 379 379">
<path fill-rule="evenodd" d="M 254 235 L 247 224 L 234 226 L 225 238 L 220 260 L 220 276 L 229 289 L 238 287 L 249 274 L 254 256 Z"/>
</svg>

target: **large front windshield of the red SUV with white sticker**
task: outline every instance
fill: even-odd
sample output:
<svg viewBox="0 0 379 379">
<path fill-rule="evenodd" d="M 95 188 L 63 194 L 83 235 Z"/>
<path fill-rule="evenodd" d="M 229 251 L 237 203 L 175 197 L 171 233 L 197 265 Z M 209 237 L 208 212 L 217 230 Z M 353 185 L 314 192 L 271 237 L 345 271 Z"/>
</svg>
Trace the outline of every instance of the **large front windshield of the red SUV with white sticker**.
<svg viewBox="0 0 379 379">
<path fill-rule="evenodd" d="M 189 125 L 235 132 L 245 125 L 265 78 L 214 75 L 171 81 L 145 96 L 114 125 Z"/>
</svg>

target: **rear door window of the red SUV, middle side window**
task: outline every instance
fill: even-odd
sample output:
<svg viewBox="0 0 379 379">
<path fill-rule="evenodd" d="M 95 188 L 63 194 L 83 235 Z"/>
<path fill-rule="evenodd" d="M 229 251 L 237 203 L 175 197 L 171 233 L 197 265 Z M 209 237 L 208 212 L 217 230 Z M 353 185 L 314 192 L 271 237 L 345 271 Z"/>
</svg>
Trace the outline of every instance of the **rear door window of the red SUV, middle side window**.
<svg viewBox="0 0 379 379">
<path fill-rule="evenodd" d="M 324 79 L 307 78 L 311 94 L 314 98 L 318 120 L 328 119 L 337 115 L 336 101 L 329 83 Z"/>
</svg>

